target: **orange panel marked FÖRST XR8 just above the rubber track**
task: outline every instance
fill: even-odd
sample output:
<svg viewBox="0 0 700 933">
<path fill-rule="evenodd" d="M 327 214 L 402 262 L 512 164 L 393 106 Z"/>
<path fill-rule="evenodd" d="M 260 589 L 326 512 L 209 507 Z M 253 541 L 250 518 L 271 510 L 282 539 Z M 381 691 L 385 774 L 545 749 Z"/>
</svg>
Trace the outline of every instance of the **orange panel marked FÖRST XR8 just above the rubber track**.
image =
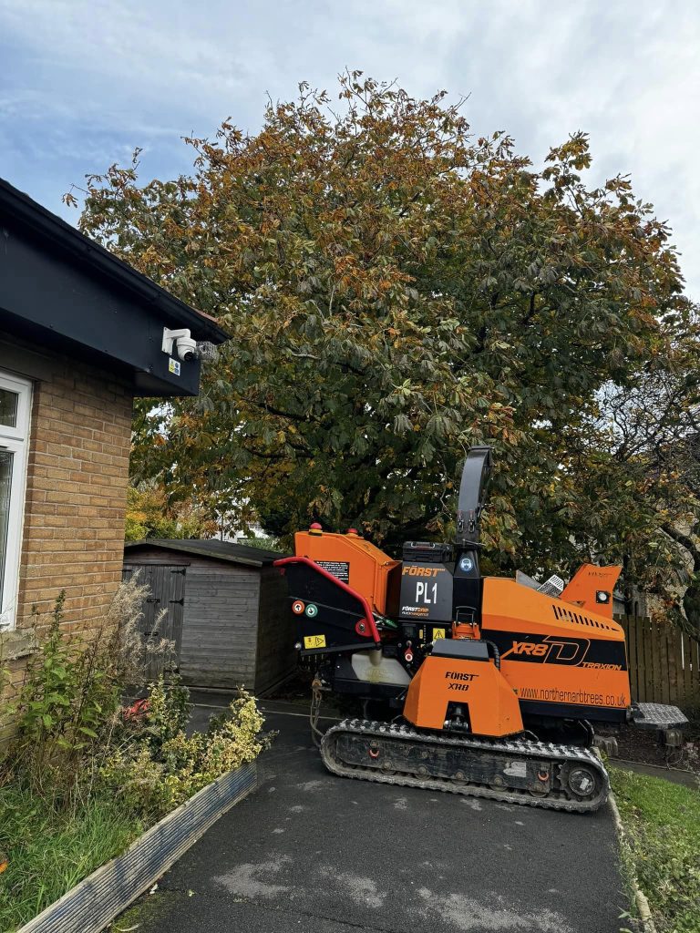
<svg viewBox="0 0 700 933">
<path fill-rule="evenodd" d="M 442 729 L 450 703 L 468 708 L 474 735 L 523 730 L 518 698 L 493 661 L 429 655 L 411 681 L 403 716 L 421 729 Z"/>
</svg>

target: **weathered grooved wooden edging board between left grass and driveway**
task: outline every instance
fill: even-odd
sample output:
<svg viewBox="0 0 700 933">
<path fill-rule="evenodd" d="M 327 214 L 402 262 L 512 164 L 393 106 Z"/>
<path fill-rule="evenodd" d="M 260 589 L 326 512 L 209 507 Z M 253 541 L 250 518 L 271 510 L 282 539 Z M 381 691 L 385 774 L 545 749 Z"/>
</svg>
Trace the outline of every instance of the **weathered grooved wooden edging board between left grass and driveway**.
<svg viewBox="0 0 700 933">
<path fill-rule="evenodd" d="M 256 761 L 223 774 L 148 829 L 122 855 L 49 904 L 18 933 L 100 933 L 257 784 Z"/>
</svg>

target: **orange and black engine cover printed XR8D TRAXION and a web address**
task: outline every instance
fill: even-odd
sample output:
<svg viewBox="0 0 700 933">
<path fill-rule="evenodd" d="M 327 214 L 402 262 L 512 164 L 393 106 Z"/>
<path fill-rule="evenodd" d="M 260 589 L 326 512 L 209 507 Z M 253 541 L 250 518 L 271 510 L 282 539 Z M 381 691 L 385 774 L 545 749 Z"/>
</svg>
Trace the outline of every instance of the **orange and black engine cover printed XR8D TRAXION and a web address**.
<svg viewBox="0 0 700 933">
<path fill-rule="evenodd" d="M 623 629 L 605 616 L 514 580 L 485 578 L 482 637 L 496 642 L 518 699 L 540 712 L 553 703 L 561 713 L 565 704 L 572 715 L 611 718 L 630 704 Z"/>
</svg>

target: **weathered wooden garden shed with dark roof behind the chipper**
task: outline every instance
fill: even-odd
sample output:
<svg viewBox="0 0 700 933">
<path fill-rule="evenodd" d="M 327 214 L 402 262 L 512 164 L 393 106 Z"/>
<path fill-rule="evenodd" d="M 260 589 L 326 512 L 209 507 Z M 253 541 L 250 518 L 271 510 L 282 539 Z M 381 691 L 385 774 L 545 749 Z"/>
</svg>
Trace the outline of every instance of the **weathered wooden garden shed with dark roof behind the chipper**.
<svg viewBox="0 0 700 933">
<path fill-rule="evenodd" d="M 175 642 L 175 667 L 184 683 L 245 686 L 259 696 L 294 671 L 287 578 L 273 567 L 279 556 L 217 540 L 125 545 L 124 578 L 140 570 L 150 587 L 142 631 Z"/>
</svg>

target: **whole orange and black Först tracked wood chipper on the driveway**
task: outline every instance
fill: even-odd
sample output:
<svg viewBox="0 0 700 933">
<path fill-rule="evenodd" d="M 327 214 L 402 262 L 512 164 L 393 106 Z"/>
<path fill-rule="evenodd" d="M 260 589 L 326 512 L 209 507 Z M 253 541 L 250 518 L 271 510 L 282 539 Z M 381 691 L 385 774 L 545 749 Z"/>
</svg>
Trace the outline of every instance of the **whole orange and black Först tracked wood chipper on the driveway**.
<svg viewBox="0 0 700 933">
<path fill-rule="evenodd" d="M 584 564 L 539 590 L 479 572 L 491 451 L 464 465 L 453 544 L 409 541 L 402 561 L 350 530 L 313 525 L 288 578 L 315 689 L 385 701 L 390 722 L 350 719 L 321 740 L 329 771 L 510 803 L 596 810 L 608 774 L 591 722 L 682 726 L 676 707 L 630 705 L 619 567 Z"/>
</svg>

